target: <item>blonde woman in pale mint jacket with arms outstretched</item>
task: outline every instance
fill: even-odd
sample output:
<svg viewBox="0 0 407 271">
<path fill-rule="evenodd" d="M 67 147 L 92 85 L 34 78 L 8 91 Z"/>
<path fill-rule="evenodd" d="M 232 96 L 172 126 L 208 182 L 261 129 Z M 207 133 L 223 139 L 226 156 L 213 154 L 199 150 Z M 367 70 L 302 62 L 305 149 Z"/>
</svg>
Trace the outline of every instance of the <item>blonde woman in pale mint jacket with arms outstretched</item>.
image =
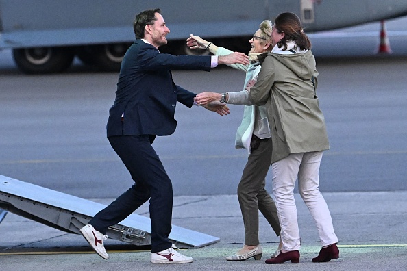
<svg viewBox="0 0 407 271">
<path fill-rule="evenodd" d="M 228 65 L 246 73 L 245 85 L 242 90 L 222 94 L 202 92 L 195 97 L 195 101 L 202 105 L 212 101 L 245 105 L 243 120 L 236 133 L 236 148 L 247 149 L 249 153 L 237 191 L 245 226 L 245 244 L 236 254 L 226 257 L 227 261 L 243 261 L 251 257 L 259 260 L 262 257 L 263 251 L 258 237 L 258 211 L 267 219 L 275 234 L 277 236 L 280 235 L 280 224 L 275 203 L 264 188 L 267 171 L 271 164 L 272 151 L 267 108 L 252 105 L 249 101 L 249 92 L 245 90 L 247 83 L 252 79 L 256 79 L 260 71 L 260 63 L 257 56 L 271 51 L 271 27 L 271 21 L 263 21 L 260 24 L 260 29 L 249 40 L 251 44 L 249 65 Z M 187 45 L 191 49 L 207 49 L 214 55 L 232 53 L 228 49 L 217 47 L 212 42 L 194 35 L 188 38 Z M 280 247 L 271 257 L 275 257 L 279 250 Z"/>
</svg>

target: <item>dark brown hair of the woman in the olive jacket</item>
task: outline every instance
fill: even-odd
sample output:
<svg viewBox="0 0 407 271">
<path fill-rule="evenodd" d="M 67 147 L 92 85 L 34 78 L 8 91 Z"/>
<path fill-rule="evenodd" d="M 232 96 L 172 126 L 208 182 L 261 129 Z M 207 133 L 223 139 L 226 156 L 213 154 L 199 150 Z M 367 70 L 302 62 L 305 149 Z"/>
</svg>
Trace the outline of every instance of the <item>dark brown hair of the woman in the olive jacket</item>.
<svg viewBox="0 0 407 271">
<path fill-rule="evenodd" d="M 312 47 L 311 41 L 301 27 L 301 21 L 297 15 L 291 12 L 280 13 L 275 18 L 274 26 L 278 33 L 284 32 L 284 38 L 277 42 L 278 48 L 287 49 L 287 40 L 293 40 L 301 50 L 309 50 Z"/>
</svg>

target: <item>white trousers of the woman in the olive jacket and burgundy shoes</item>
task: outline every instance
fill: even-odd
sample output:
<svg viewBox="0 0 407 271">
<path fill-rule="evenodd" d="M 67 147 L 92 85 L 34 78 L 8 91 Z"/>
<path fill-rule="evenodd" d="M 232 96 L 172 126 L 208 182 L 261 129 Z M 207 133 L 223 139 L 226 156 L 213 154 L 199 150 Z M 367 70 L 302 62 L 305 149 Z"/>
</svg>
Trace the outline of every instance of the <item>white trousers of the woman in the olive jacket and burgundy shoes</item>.
<svg viewBox="0 0 407 271">
<path fill-rule="evenodd" d="M 328 205 L 319 192 L 319 165 L 322 151 L 293 153 L 271 165 L 273 193 L 281 225 L 283 250 L 299 250 L 301 247 L 295 207 L 294 187 L 298 177 L 298 189 L 307 205 L 319 233 L 322 246 L 338 242 Z"/>
</svg>

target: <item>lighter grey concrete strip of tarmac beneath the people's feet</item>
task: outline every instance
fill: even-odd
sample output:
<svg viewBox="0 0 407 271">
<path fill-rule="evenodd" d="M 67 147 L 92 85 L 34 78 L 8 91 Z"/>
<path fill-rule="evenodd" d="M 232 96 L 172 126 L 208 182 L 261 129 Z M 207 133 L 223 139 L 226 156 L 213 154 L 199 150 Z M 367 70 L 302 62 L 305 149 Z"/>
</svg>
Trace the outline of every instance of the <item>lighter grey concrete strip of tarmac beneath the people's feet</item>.
<svg viewBox="0 0 407 271">
<path fill-rule="evenodd" d="M 279 242 L 260 215 L 260 261 L 226 261 L 243 246 L 243 220 L 236 195 L 177 196 L 173 224 L 220 237 L 203 248 L 182 250 L 193 263 L 150 263 L 148 246 L 106 240 L 108 260 L 90 249 L 81 235 L 64 233 L 8 213 L 0 223 L 0 270 L 407 270 L 407 192 L 324 193 L 330 207 L 340 258 L 312 263 L 320 250 L 319 237 L 308 209 L 295 194 L 301 233 L 298 264 L 267 265 L 265 259 Z M 110 199 L 93 199 L 108 204 Z M 148 205 L 136 211 L 148 216 Z"/>
</svg>

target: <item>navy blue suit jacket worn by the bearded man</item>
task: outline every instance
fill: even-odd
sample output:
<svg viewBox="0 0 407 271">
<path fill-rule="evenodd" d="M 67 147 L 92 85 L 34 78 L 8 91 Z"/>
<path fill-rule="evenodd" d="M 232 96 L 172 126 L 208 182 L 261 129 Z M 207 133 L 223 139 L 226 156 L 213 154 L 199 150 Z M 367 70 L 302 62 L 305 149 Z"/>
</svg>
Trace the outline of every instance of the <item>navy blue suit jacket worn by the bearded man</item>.
<svg viewBox="0 0 407 271">
<path fill-rule="evenodd" d="M 109 110 L 108 138 L 171 135 L 177 126 L 177 101 L 192 107 L 195 97 L 193 92 L 175 85 L 171 70 L 209 71 L 210 62 L 210 56 L 164 54 L 136 40 L 121 63 L 116 99 Z"/>
</svg>

